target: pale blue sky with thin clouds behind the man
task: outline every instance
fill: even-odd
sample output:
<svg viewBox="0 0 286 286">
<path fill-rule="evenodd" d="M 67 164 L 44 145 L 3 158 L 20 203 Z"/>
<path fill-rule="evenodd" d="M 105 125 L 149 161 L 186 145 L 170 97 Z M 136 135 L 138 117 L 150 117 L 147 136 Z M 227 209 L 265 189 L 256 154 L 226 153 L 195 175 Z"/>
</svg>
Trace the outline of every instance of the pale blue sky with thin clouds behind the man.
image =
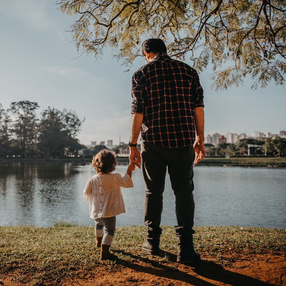
<svg viewBox="0 0 286 286">
<path fill-rule="evenodd" d="M 0 103 L 37 102 L 38 115 L 47 107 L 75 110 L 85 121 L 78 136 L 91 141 L 127 143 L 130 137 L 131 78 L 144 65 L 134 61 L 129 72 L 105 50 L 102 59 L 78 57 L 71 33 L 73 17 L 57 10 L 51 0 L 9 0 L 0 8 Z M 192 65 L 192 61 L 185 62 Z M 204 89 L 205 136 L 218 132 L 279 134 L 286 128 L 285 86 L 270 83 L 251 90 L 244 85 L 226 91 L 210 90 L 208 71 L 200 74 Z"/>
</svg>

